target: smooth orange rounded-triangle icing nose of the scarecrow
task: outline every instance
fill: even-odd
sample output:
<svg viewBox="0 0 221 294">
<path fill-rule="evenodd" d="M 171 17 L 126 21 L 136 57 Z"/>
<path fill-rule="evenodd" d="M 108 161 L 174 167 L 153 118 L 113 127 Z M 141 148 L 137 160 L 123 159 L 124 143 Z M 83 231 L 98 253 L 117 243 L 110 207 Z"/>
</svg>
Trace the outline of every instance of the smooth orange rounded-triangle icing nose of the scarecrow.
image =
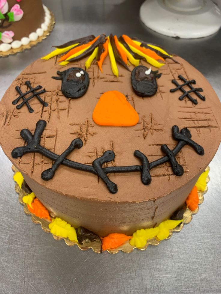
<svg viewBox="0 0 221 294">
<path fill-rule="evenodd" d="M 134 126 L 139 121 L 137 111 L 118 91 L 102 94 L 92 117 L 94 122 L 101 126 Z"/>
</svg>

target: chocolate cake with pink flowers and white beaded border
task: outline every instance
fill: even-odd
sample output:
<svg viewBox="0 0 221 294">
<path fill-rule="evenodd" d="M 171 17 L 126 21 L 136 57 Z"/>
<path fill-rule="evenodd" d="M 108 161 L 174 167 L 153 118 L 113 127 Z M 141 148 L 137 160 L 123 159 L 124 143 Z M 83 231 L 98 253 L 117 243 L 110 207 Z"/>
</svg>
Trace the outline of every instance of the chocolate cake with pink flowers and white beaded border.
<svg viewBox="0 0 221 294">
<path fill-rule="evenodd" d="M 41 0 L 0 1 L 0 52 L 26 46 L 48 30 L 50 11 Z"/>
</svg>

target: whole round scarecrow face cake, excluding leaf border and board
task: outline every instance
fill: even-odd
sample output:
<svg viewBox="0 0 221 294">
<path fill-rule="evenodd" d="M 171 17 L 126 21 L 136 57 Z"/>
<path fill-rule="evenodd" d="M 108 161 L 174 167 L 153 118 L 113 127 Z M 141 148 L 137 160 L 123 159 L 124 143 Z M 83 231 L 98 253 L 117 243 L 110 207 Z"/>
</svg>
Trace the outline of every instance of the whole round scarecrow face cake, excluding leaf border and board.
<svg viewBox="0 0 221 294">
<path fill-rule="evenodd" d="M 185 203 L 218 148 L 220 109 L 182 58 L 126 35 L 88 36 L 14 80 L 0 142 L 52 217 L 130 235 Z"/>
</svg>

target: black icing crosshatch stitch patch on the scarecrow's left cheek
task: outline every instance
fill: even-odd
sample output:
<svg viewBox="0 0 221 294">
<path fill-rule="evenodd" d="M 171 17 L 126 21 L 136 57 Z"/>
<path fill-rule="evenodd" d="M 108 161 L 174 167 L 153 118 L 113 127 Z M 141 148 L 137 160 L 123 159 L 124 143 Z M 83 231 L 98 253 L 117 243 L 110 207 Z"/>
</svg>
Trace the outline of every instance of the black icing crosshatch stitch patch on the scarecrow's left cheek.
<svg viewBox="0 0 221 294">
<path fill-rule="evenodd" d="M 12 104 L 15 105 L 15 104 L 17 104 L 19 102 L 20 99 L 23 99 L 23 101 L 19 105 L 16 106 L 17 109 L 22 108 L 22 106 L 24 104 L 26 104 L 26 106 L 28 107 L 29 112 L 34 112 L 34 110 L 31 108 L 31 106 L 29 105 L 29 102 L 28 102 L 30 99 L 32 99 L 34 97 L 38 98 L 38 100 L 41 102 L 41 104 L 44 105 L 45 107 L 48 106 L 47 102 L 45 102 L 44 100 L 42 100 L 41 97 L 39 96 L 39 94 L 43 94 L 43 93 L 46 92 L 45 89 L 43 89 L 41 91 L 38 91 L 38 92 L 35 92 L 35 90 L 41 89 L 42 86 L 38 85 L 37 87 L 32 88 L 30 81 L 26 81 L 25 82 L 25 85 L 28 86 L 29 89 L 30 89 L 29 91 L 27 91 L 25 93 L 22 93 L 22 91 L 21 91 L 21 89 L 20 89 L 19 86 L 16 86 L 15 87 L 15 90 L 18 92 L 18 94 L 20 94 L 20 96 L 18 98 L 16 98 L 15 100 L 13 100 L 12 101 Z M 28 94 L 30 94 L 30 93 L 32 93 L 32 95 L 29 96 L 28 98 L 25 98 L 25 96 L 28 95 Z"/>
</svg>

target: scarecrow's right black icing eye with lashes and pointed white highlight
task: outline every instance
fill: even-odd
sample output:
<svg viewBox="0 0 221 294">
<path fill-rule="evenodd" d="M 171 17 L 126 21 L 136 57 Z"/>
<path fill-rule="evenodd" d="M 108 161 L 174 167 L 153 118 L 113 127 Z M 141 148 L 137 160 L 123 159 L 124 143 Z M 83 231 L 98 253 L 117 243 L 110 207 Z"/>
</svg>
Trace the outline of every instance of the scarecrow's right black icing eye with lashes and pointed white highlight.
<svg viewBox="0 0 221 294">
<path fill-rule="evenodd" d="M 156 79 L 161 76 L 158 70 L 152 71 L 151 68 L 140 65 L 133 69 L 131 73 L 131 83 L 134 92 L 140 97 L 150 97 L 156 94 Z"/>
</svg>

